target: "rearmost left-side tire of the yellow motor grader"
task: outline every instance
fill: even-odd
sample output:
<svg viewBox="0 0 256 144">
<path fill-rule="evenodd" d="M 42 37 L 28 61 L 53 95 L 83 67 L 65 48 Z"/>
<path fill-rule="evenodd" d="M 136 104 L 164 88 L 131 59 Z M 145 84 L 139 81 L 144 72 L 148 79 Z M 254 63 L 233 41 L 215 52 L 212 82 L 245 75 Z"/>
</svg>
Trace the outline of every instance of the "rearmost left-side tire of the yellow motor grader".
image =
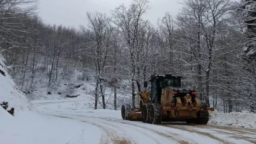
<svg viewBox="0 0 256 144">
<path fill-rule="evenodd" d="M 149 105 L 149 123 L 161 124 L 162 122 L 162 110 L 159 104 Z"/>
</svg>

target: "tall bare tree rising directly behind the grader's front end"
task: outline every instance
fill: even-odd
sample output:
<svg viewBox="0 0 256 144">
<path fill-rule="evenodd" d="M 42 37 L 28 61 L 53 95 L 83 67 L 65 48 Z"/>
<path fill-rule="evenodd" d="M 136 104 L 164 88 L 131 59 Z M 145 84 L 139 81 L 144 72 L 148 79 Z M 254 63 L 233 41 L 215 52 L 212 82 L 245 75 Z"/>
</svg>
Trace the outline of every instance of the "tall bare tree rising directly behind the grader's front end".
<svg viewBox="0 0 256 144">
<path fill-rule="evenodd" d="M 119 6 L 113 11 L 113 23 L 117 25 L 120 29 L 121 35 L 123 37 L 123 46 L 127 47 L 129 51 L 129 57 L 126 57 L 128 68 L 126 68 L 130 76 L 128 79 L 131 81 L 131 95 L 132 95 L 132 105 L 135 107 L 135 78 L 138 58 L 138 49 L 139 49 L 139 39 L 138 35 L 140 34 L 140 28 L 142 25 L 142 16 L 145 14 L 149 1 L 147 0 L 135 0 L 129 8 L 126 8 L 124 5 Z M 140 71 L 138 71 L 140 73 Z"/>
</svg>

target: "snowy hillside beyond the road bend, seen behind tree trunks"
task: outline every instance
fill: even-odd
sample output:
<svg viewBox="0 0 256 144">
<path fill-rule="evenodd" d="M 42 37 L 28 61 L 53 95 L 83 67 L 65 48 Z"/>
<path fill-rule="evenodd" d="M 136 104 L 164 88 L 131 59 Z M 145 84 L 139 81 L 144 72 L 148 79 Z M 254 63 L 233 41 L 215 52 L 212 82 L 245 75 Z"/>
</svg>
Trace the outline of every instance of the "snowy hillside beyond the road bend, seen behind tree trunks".
<svg viewBox="0 0 256 144">
<path fill-rule="evenodd" d="M 80 80 L 78 77 L 80 73 L 75 73 L 72 80 L 61 79 L 59 80 L 58 87 L 47 88 L 37 87 L 33 91 L 24 93 L 29 100 L 39 100 L 44 102 L 45 100 L 76 100 L 76 102 L 66 109 L 90 109 L 94 108 L 95 102 L 95 81 L 94 80 Z M 125 88 L 126 84 L 121 83 L 121 87 L 117 90 L 117 107 L 121 109 L 123 103 L 131 102 L 131 96 L 128 88 Z M 104 85 L 106 109 L 114 109 L 114 88 Z M 70 98 L 67 97 L 75 97 Z M 99 101 L 102 102 L 101 97 Z M 99 102 L 97 109 L 102 109 L 102 105 Z"/>
</svg>

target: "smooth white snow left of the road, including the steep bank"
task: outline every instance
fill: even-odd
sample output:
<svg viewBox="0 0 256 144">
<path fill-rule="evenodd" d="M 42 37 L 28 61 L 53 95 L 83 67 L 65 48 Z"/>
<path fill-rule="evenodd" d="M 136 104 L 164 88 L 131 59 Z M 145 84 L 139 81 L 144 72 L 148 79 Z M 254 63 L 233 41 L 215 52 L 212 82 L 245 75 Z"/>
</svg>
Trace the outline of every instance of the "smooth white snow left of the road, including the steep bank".
<svg viewBox="0 0 256 144">
<path fill-rule="evenodd" d="M 0 103 L 8 102 L 7 110 L 14 107 L 15 116 L 11 116 L 3 107 L 0 107 L 0 143 L 99 143 L 101 129 L 97 126 L 37 114 L 32 104 L 8 75 L 3 60 L 0 55 L 0 69 L 5 75 L 0 73 Z"/>
</svg>

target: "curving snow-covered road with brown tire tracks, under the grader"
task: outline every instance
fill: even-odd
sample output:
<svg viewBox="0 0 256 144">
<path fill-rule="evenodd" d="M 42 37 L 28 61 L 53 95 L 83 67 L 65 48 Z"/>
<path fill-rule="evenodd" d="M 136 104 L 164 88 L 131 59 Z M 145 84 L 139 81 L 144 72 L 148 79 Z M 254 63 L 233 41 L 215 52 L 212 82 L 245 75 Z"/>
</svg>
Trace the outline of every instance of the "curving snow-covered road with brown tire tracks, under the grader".
<svg viewBox="0 0 256 144">
<path fill-rule="evenodd" d="M 256 143 L 256 129 L 210 124 L 163 123 L 154 125 L 138 121 L 124 121 L 119 111 L 67 110 L 67 106 L 73 102 L 62 100 L 34 101 L 33 103 L 41 114 L 82 121 L 90 125 L 88 129 L 84 129 L 85 131 L 92 131 L 92 129 L 100 131 L 94 132 L 95 135 L 100 135 L 99 143 Z M 83 138 L 81 140 L 83 143 L 89 143 Z"/>
</svg>

